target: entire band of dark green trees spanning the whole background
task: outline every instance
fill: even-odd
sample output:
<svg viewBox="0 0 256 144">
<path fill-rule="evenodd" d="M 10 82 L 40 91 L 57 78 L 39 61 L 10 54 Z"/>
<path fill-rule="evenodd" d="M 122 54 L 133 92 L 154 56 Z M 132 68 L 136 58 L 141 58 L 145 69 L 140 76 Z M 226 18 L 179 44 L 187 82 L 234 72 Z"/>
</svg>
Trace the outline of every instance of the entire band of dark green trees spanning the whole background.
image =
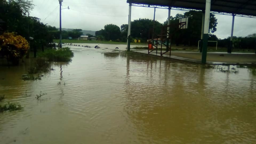
<svg viewBox="0 0 256 144">
<path fill-rule="evenodd" d="M 0 1 L 0 34 L 3 32 L 16 32 L 28 39 L 33 37 L 35 43 L 46 44 L 59 39 L 59 30 L 56 27 L 46 25 L 40 22 L 41 19 L 37 17 L 30 17 L 29 11 L 34 7 L 31 0 L 3 0 Z M 188 28 L 178 29 L 179 19 L 188 17 Z M 202 27 L 202 13 L 198 11 L 188 11 L 184 14 L 177 14 L 171 19 L 171 42 L 172 44 L 196 46 L 198 40 L 201 39 Z M 210 14 L 209 24 L 209 40 L 218 41 L 221 47 L 229 45 L 230 38 L 218 39 L 214 32 L 217 30 L 217 18 L 214 14 Z M 167 20 L 163 23 L 153 21 L 151 19 L 137 19 L 131 22 L 131 41 L 133 39 L 140 39 L 141 42 L 147 42 L 148 39 L 157 38 L 159 34 L 166 34 Z M 154 32 L 153 28 L 154 27 Z M 107 24 L 104 29 L 95 32 L 95 37 L 105 41 L 127 41 L 128 25 L 123 24 L 120 27 L 114 24 Z M 163 32 L 162 32 L 163 31 Z M 81 29 L 74 29 L 72 31 L 62 31 L 62 38 L 69 37 L 78 38 L 83 35 Z M 93 35 L 86 34 L 89 37 Z M 245 38 L 234 37 L 233 43 L 235 48 L 249 48 L 255 47 L 255 35 Z M 209 43 L 210 44 L 210 43 Z"/>
</svg>

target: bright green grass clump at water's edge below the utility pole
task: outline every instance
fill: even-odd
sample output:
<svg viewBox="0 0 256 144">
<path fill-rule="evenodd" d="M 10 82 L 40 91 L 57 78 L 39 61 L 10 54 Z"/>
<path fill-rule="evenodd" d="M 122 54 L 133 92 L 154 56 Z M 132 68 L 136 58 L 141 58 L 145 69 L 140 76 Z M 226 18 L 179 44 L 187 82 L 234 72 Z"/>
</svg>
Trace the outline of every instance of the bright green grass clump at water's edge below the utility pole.
<svg viewBox="0 0 256 144">
<path fill-rule="evenodd" d="M 48 61 L 53 62 L 70 62 L 74 53 L 69 47 L 64 47 L 62 49 L 47 49 L 44 52 L 38 53 L 38 57 L 47 58 Z"/>
</svg>

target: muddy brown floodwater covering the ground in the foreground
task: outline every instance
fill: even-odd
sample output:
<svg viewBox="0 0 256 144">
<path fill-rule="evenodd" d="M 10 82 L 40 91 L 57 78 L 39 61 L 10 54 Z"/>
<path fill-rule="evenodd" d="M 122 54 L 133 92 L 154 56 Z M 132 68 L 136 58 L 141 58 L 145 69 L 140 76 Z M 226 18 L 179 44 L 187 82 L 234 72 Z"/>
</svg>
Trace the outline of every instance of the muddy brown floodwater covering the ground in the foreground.
<svg viewBox="0 0 256 144">
<path fill-rule="evenodd" d="M 38 81 L 1 66 L 1 103 L 25 107 L 0 113 L 0 143 L 256 143 L 256 76 L 223 67 L 94 48 Z"/>
</svg>

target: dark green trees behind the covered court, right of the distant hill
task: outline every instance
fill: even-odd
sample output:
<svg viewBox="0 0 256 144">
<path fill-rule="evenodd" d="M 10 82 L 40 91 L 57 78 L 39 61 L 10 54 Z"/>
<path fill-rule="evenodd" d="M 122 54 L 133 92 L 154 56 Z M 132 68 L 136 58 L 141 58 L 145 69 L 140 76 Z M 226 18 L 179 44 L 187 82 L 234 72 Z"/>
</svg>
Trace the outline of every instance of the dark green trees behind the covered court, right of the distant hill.
<svg viewBox="0 0 256 144">
<path fill-rule="evenodd" d="M 188 17 L 188 28 L 178 29 L 179 19 Z M 198 41 L 201 40 L 202 28 L 202 12 L 188 11 L 184 14 L 177 14 L 175 17 L 171 16 L 171 42 L 173 45 L 187 45 L 197 46 Z M 219 47 L 228 47 L 230 44 L 230 37 L 219 39 L 214 32 L 217 30 L 217 18 L 214 14 L 210 14 L 209 23 L 209 41 L 218 41 Z M 148 39 L 160 38 L 157 35 L 166 35 L 167 20 L 163 23 L 153 21 L 151 19 L 137 19 L 131 22 L 131 41 L 133 39 L 140 39 L 141 42 L 147 42 Z M 153 27 L 154 33 L 153 33 Z M 104 29 L 95 32 L 96 37 L 106 41 L 127 41 L 128 25 L 123 24 L 121 27 L 114 24 L 107 24 Z M 162 32 L 163 31 L 163 32 Z M 166 38 L 166 37 L 163 37 Z M 233 48 L 237 49 L 255 49 L 256 34 L 248 35 L 247 37 L 233 37 Z M 209 43 L 209 46 L 214 46 L 215 43 Z"/>
</svg>

